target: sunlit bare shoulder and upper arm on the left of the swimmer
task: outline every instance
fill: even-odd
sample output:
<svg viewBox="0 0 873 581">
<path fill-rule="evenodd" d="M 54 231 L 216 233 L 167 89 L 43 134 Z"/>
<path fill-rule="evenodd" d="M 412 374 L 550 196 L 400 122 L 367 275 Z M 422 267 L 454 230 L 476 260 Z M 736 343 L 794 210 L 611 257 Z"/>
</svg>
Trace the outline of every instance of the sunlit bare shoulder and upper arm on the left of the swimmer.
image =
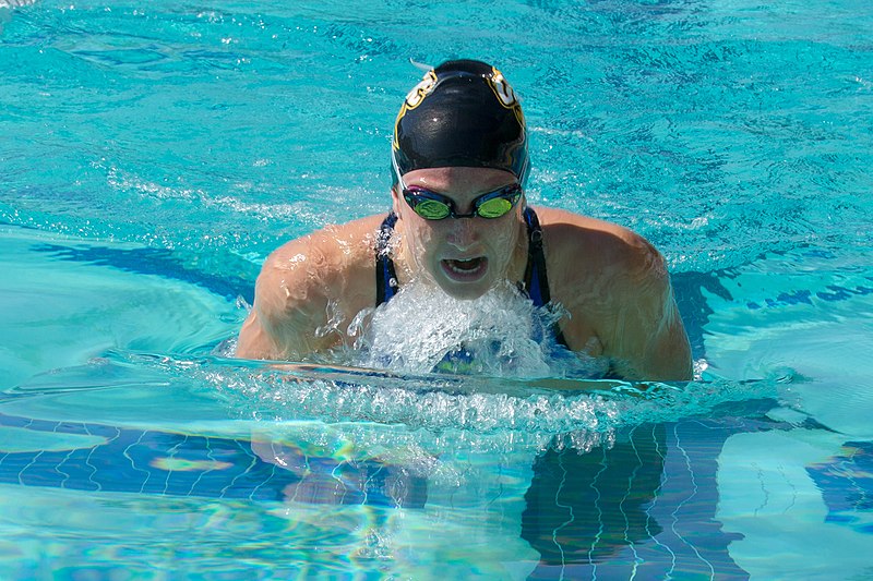
<svg viewBox="0 0 873 581">
<path fill-rule="evenodd" d="M 328 226 L 291 240 L 264 262 L 237 354 L 282 359 L 330 348 L 373 303 L 373 252 L 381 216 Z"/>
</svg>

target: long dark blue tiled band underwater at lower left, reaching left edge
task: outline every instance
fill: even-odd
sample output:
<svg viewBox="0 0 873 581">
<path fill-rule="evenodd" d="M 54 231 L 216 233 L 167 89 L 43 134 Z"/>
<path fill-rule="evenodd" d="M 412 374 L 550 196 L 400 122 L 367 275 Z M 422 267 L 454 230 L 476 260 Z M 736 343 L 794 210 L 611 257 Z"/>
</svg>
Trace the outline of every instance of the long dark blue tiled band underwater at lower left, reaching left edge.
<svg viewBox="0 0 873 581">
<path fill-rule="evenodd" d="M 98 436 L 96 445 L 60 450 L 4 451 L 0 483 L 86 492 L 420 508 L 427 481 L 378 458 L 340 460 L 303 452 L 290 443 L 258 443 L 73 424 L 0 414 L 0 426 L 43 434 Z M 64 445 L 60 438 L 59 445 Z M 285 467 L 256 453 L 262 447 Z"/>
</svg>

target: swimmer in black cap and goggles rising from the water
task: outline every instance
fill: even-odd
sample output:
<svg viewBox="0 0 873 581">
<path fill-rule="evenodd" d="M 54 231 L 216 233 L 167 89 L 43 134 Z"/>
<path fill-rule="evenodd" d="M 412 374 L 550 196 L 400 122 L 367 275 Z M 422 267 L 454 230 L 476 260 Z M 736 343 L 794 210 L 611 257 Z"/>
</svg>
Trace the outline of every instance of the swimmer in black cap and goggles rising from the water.
<svg viewBox="0 0 873 581">
<path fill-rule="evenodd" d="M 461 300 L 509 281 L 537 306 L 559 305 L 555 340 L 607 358 L 611 376 L 691 379 L 658 251 L 621 226 L 527 205 L 527 129 L 500 71 L 474 60 L 429 71 L 400 106 L 391 167 L 387 215 L 270 255 L 237 356 L 299 360 L 350 344 L 342 329 L 412 281 Z"/>
</svg>

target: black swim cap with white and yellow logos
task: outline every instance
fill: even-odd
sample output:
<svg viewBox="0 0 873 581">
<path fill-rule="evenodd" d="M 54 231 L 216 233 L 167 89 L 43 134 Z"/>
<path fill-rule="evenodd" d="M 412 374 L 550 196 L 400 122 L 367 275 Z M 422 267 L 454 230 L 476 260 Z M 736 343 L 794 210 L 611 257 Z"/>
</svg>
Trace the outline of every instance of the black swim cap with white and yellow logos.
<svg viewBox="0 0 873 581">
<path fill-rule="evenodd" d="M 394 124 L 392 155 L 400 175 L 423 168 L 494 168 L 524 184 L 528 160 L 522 106 L 490 64 L 444 62 L 406 96 Z"/>
</svg>

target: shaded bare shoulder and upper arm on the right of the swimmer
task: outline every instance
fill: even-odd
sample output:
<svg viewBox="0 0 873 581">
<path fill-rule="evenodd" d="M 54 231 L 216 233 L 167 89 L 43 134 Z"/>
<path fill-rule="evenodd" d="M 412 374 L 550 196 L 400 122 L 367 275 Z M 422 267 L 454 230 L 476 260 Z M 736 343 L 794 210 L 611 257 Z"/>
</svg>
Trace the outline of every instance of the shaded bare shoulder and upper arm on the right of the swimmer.
<svg viewBox="0 0 873 581">
<path fill-rule="evenodd" d="M 552 298 L 569 344 L 606 355 L 627 378 L 690 379 L 691 348 L 663 256 L 639 234 L 539 209 Z"/>
</svg>

